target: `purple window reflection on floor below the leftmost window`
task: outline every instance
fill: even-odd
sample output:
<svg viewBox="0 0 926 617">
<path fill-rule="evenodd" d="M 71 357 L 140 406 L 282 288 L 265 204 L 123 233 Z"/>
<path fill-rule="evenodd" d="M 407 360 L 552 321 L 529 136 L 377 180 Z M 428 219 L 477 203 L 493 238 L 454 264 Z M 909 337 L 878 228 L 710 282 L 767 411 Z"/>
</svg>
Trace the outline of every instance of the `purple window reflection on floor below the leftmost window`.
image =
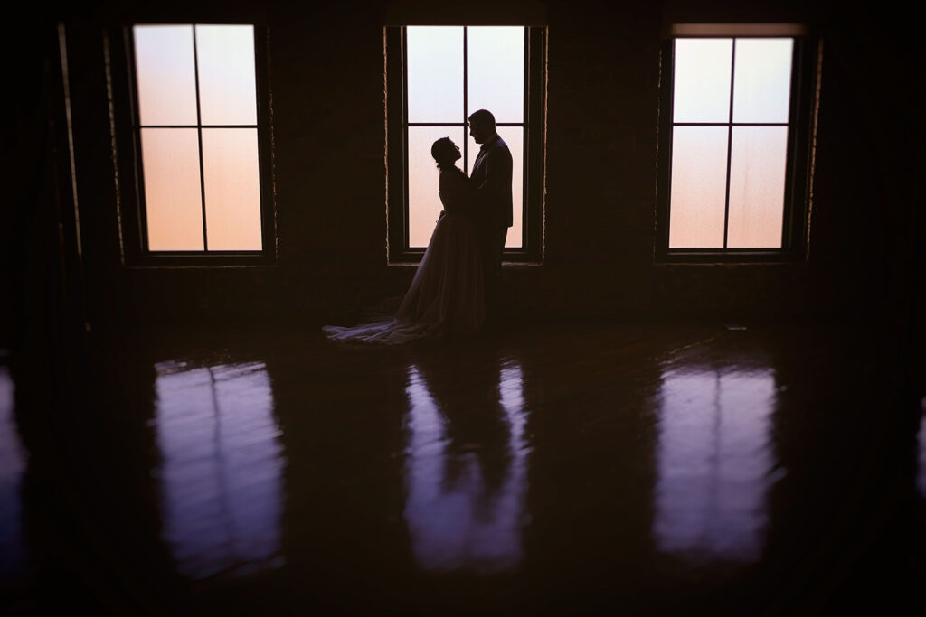
<svg viewBox="0 0 926 617">
<path fill-rule="evenodd" d="M 157 369 L 164 537 L 181 574 L 282 563 L 282 446 L 263 364 Z"/>
</svg>

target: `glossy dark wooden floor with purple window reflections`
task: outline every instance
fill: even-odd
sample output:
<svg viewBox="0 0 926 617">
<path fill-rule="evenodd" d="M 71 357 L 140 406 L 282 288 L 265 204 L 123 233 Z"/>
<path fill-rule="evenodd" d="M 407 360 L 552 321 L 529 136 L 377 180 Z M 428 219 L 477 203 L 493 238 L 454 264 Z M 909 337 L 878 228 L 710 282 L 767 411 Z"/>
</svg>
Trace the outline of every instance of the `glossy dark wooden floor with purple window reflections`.
<svg viewBox="0 0 926 617">
<path fill-rule="evenodd" d="M 729 326 L 130 332 L 51 382 L 0 366 L 4 614 L 921 611 L 891 342 Z"/>
</svg>

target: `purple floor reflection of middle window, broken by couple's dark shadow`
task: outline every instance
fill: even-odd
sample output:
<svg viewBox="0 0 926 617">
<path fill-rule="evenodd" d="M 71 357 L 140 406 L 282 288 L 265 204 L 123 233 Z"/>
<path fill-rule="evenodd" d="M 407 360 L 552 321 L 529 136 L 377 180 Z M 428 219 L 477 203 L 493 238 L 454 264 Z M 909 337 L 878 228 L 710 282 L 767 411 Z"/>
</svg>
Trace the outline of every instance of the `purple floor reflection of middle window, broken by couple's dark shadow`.
<svg viewBox="0 0 926 617">
<path fill-rule="evenodd" d="M 480 383 L 484 373 L 409 368 L 405 519 L 425 570 L 498 573 L 521 560 L 528 452 L 521 367 L 501 364 L 497 382 Z"/>
</svg>

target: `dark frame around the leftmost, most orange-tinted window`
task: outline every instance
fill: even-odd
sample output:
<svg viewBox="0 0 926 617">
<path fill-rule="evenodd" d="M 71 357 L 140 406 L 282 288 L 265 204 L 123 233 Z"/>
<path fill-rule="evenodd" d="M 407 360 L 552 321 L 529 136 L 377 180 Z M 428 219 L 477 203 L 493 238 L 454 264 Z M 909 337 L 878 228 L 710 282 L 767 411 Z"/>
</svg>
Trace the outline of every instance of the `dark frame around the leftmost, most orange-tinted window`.
<svg viewBox="0 0 926 617">
<path fill-rule="evenodd" d="M 254 28 L 257 104 L 257 166 L 260 182 L 260 251 L 149 251 L 144 204 L 141 123 L 132 28 L 136 25 L 247 25 Z M 269 29 L 256 23 L 206 23 L 191 20 L 135 22 L 106 31 L 106 84 L 117 184 L 117 213 L 122 264 L 134 267 L 213 267 L 275 265 L 276 200 L 273 178 L 272 106 L 269 90 Z M 198 93 L 197 93 L 198 96 Z M 201 129 L 209 125 L 191 125 Z M 254 128 L 251 125 L 243 129 Z M 200 152 L 202 159 L 202 152 Z M 202 160 L 200 160 L 202 173 Z M 203 179 L 200 178 L 202 186 Z M 202 198 L 202 195 L 201 195 Z M 204 239 L 205 240 L 205 239 Z"/>
</svg>

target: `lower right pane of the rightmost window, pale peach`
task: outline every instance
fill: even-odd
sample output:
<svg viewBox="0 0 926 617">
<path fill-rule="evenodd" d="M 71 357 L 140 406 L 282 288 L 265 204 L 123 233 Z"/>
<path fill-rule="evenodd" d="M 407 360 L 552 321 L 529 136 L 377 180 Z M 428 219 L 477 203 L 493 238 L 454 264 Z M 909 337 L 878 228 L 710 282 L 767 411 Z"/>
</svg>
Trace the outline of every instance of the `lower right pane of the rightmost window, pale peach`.
<svg viewBox="0 0 926 617">
<path fill-rule="evenodd" d="M 782 247 L 787 127 L 734 127 L 727 246 Z"/>
</svg>

